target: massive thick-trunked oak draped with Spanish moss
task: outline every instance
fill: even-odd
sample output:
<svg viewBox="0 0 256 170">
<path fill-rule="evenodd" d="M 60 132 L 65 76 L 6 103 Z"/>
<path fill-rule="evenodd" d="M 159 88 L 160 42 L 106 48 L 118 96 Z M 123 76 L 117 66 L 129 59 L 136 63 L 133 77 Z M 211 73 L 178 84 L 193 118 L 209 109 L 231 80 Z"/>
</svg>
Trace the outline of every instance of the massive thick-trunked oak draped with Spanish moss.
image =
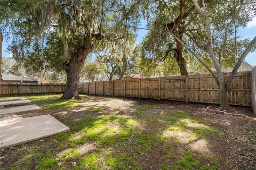
<svg viewBox="0 0 256 170">
<path fill-rule="evenodd" d="M 58 62 L 67 61 L 63 62 L 67 66 L 66 90 L 62 96 L 65 99 L 80 98 L 79 73 L 87 55 L 97 47 L 104 47 L 106 41 L 127 37 L 129 28 L 120 23 L 133 25 L 139 18 L 136 4 L 126 1 L 13 0 L 1 1 L 0 5 L 10 14 L 5 15 L 5 23 L 12 28 L 10 49 L 15 60 L 31 56 L 39 60 L 45 56 L 46 48 L 50 48 L 50 52 L 55 50 L 47 47 L 47 37 L 55 33 L 53 43 L 60 42 L 58 50 L 62 50 L 60 56 L 63 57 Z"/>
</svg>

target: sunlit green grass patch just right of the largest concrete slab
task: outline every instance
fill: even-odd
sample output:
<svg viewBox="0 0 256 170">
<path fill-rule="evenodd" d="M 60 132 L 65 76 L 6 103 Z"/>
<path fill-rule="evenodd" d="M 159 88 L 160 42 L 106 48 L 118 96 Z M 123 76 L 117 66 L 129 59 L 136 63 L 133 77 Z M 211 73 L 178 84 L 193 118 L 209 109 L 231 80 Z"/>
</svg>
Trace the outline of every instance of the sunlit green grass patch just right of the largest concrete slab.
<svg viewBox="0 0 256 170">
<path fill-rule="evenodd" d="M 129 127 L 137 122 L 137 120 L 114 115 L 88 117 L 69 126 L 72 131 L 79 131 L 79 134 L 69 138 L 68 141 L 72 147 L 86 143 L 88 140 L 102 144 L 122 142 L 132 135 L 133 130 Z"/>
</svg>

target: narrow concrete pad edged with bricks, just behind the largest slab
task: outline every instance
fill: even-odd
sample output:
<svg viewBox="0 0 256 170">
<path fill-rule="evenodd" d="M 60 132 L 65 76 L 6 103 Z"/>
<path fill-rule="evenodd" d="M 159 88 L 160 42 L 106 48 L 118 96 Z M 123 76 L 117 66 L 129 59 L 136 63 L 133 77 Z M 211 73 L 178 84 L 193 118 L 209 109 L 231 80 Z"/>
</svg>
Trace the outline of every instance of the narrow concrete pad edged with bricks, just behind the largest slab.
<svg viewBox="0 0 256 170">
<path fill-rule="evenodd" d="M 7 107 L 0 109 L 1 114 L 9 114 L 9 113 L 18 113 L 18 112 L 25 112 L 25 111 L 32 111 L 36 109 L 42 109 L 37 105 L 25 105 L 25 106 L 15 106 L 15 107 Z"/>
</svg>

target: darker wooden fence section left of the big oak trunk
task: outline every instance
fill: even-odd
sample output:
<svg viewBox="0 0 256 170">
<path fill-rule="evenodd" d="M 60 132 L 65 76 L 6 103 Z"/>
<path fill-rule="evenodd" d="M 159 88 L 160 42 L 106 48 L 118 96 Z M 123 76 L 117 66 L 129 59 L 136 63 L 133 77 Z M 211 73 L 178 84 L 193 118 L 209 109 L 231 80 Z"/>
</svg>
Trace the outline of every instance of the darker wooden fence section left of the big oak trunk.
<svg viewBox="0 0 256 170">
<path fill-rule="evenodd" d="M 1 83 L 0 97 L 61 94 L 64 90 L 62 83 Z"/>
</svg>

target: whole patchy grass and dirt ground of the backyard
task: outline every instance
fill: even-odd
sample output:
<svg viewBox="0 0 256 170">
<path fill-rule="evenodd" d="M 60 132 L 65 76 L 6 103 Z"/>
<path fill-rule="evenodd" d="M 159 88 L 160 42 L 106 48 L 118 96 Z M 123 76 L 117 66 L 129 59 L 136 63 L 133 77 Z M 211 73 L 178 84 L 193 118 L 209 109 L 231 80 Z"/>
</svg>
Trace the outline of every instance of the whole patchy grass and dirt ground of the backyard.
<svg viewBox="0 0 256 170">
<path fill-rule="evenodd" d="M 0 151 L 0 169 L 256 169 L 256 118 L 206 104 L 60 95 L 27 97 L 70 131 Z"/>
</svg>

